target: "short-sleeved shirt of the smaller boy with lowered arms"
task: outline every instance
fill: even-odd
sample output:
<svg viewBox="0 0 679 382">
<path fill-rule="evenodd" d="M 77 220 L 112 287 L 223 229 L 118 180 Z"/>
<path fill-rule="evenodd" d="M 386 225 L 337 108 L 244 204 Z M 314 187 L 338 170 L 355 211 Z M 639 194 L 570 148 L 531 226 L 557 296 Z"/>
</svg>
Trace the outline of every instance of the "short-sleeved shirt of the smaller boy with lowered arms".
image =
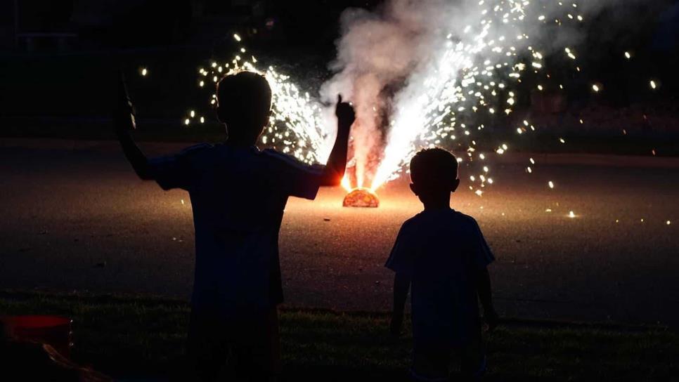
<svg viewBox="0 0 679 382">
<path fill-rule="evenodd" d="M 408 275 L 413 338 L 464 345 L 479 328 L 477 275 L 494 261 L 476 220 L 453 209 L 403 223 L 387 268 Z"/>
</svg>

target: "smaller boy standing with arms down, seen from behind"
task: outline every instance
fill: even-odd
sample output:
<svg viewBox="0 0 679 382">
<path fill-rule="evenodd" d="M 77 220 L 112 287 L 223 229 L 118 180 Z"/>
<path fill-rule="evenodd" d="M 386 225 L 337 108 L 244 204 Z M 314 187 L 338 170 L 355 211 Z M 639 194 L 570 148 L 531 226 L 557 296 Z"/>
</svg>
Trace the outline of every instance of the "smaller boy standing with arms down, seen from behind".
<svg viewBox="0 0 679 382">
<path fill-rule="evenodd" d="M 403 307 L 411 290 L 415 381 L 448 381 L 453 350 L 460 354 L 467 378 L 481 378 L 486 355 L 481 342 L 479 303 L 489 329 L 498 315 L 491 301 L 486 268 L 494 257 L 476 220 L 451 209 L 451 193 L 460 185 L 455 156 L 441 148 L 425 149 L 410 161 L 410 190 L 425 211 L 403 223 L 385 265 L 394 277 L 391 331 L 403 327 Z"/>
</svg>

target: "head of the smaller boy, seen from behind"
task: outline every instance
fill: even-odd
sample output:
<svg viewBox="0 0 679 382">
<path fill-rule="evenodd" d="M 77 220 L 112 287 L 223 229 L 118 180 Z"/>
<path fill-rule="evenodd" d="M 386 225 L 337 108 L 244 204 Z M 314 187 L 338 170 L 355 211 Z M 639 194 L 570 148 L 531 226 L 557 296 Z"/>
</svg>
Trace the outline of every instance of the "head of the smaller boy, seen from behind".
<svg viewBox="0 0 679 382">
<path fill-rule="evenodd" d="M 460 185 L 458 159 L 439 147 L 420 150 L 410 159 L 410 180 L 410 190 L 422 203 L 448 203 Z"/>
</svg>

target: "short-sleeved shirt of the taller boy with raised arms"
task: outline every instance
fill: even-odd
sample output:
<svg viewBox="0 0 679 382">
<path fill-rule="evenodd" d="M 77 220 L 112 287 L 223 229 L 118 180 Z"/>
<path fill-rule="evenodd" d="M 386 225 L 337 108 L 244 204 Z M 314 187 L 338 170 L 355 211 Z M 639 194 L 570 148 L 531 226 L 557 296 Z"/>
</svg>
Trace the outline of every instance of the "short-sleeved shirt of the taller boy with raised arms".
<svg viewBox="0 0 679 382">
<path fill-rule="evenodd" d="M 322 166 L 274 150 L 196 145 L 150 159 L 164 190 L 188 190 L 195 227 L 192 307 L 233 316 L 283 302 L 278 231 L 290 196 L 314 199 Z"/>
</svg>

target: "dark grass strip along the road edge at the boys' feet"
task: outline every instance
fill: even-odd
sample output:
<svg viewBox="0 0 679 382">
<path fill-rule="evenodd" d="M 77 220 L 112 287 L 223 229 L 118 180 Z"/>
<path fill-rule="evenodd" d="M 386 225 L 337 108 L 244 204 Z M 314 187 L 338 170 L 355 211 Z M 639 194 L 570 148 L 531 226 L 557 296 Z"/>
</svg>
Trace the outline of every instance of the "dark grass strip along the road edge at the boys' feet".
<svg viewBox="0 0 679 382">
<path fill-rule="evenodd" d="M 183 354 L 186 302 L 148 296 L 1 291 L 0 314 L 72 317 L 72 357 L 116 377 L 164 377 Z M 284 381 L 403 380 L 409 335 L 388 315 L 283 309 Z M 658 327 L 509 321 L 486 338 L 491 381 L 667 381 L 679 376 L 679 334 Z"/>
</svg>

